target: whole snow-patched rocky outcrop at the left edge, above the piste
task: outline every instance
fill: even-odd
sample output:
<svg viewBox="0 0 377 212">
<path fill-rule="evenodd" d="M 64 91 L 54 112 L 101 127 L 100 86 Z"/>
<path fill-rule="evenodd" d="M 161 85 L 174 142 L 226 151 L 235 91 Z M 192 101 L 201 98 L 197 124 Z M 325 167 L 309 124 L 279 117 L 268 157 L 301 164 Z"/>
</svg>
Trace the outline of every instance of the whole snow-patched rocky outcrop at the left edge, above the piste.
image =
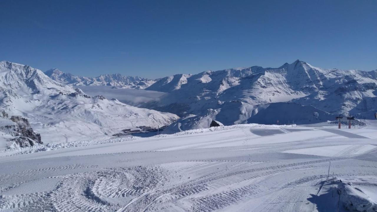
<svg viewBox="0 0 377 212">
<path fill-rule="evenodd" d="M 0 110 L 0 118 L 8 118 L 8 114 L 4 110 Z M 11 124 L 11 121 L 14 124 Z M 0 131 L 14 136 L 14 138 L 9 139 L 8 141 L 11 141 L 19 147 L 43 144 L 41 135 L 34 132 L 28 119 L 21 116 L 12 116 L 9 122 L 6 125 L 0 126 Z"/>
</svg>

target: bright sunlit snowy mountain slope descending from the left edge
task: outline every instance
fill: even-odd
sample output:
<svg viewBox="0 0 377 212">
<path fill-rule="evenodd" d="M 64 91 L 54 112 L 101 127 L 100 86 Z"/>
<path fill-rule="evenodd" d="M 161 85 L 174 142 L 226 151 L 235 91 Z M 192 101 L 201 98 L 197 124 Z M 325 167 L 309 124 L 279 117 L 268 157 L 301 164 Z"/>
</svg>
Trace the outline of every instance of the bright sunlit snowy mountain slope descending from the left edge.
<svg viewBox="0 0 377 212">
<path fill-rule="evenodd" d="M 30 66 L 0 62 L 0 108 L 28 118 L 45 143 L 110 137 L 123 129 L 164 126 L 178 116 L 136 108 L 52 80 Z"/>
</svg>

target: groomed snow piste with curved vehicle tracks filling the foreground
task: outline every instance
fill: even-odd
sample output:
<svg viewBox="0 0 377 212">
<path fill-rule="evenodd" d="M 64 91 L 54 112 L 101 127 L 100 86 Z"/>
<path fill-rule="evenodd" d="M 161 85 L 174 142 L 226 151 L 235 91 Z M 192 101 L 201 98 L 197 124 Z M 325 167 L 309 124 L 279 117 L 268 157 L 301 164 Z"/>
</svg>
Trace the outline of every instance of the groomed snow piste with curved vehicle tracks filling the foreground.
<svg viewBox="0 0 377 212">
<path fill-rule="evenodd" d="M 376 126 L 239 124 L 3 150 L 0 211 L 376 211 Z"/>
</svg>

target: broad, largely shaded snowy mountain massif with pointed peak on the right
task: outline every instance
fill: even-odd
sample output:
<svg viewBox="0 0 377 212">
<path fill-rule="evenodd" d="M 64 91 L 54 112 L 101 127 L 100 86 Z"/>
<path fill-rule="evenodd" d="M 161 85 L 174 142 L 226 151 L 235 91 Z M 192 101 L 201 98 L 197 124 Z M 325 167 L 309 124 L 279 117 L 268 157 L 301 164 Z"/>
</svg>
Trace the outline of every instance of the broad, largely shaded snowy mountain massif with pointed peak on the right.
<svg viewBox="0 0 377 212">
<path fill-rule="evenodd" d="M 169 94 L 144 106 L 181 115 L 182 128 L 190 125 L 185 129 L 209 126 L 211 120 L 225 125 L 306 124 L 333 120 L 332 114 L 339 113 L 372 118 L 376 83 L 376 71 L 322 69 L 296 60 L 279 68 L 253 66 L 162 78 L 147 89 Z"/>
</svg>

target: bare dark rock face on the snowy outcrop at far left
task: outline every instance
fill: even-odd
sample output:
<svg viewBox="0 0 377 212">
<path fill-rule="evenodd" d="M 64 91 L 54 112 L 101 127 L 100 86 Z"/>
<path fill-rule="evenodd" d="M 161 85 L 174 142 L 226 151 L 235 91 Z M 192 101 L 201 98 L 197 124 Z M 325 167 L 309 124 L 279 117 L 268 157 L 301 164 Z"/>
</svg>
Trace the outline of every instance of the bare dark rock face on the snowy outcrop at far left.
<svg viewBox="0 0 377 212">
<path fill-rule="evenodd" d="M 36 143 L 43 144 L 43 142 L 41 141 L 41 135 L 37 134 L 33 131 L 33 129 L 31 128 L 31 126 L 29 124 L 29 121 L 26 118 L 23 118 L 21 116 L 12 116 L 11 121 L 18 124 L 17 135 L 20 136 L 19 138 L 22 138 L 22 137 L 30 138 L 30 139 L 34 140 Z M 25 138 L 22 138 L 22 139 L 24 141 L 26 141 Z M 28 140 L 28 142 L 29 142 L 29 140 Z M 34 143 L 30 144 L 30 146 L 33 146 L 33 145 L 34 145 Z"/>
</svg>

